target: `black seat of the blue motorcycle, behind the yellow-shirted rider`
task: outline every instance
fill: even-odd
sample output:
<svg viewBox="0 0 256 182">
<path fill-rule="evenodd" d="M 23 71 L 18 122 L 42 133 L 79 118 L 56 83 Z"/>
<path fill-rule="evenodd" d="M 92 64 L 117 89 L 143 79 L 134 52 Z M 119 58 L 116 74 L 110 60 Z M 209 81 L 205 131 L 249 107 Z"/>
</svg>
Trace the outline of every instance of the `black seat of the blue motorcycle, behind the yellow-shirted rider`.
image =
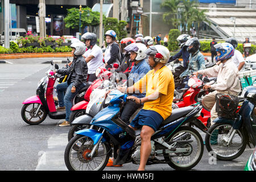
<svg viewBox="0 0 256 182">
<path fill-rule="evenodd" d="M 172 114 L 161 123 L 161 126 L 166 125 L 172 121 L 175 121 L 176 119 L 179 119 L 179 118 L 183 117 L 184 115 L 187 115 L 193 109 L 195 109 L 195 107 L 193 107 L 193 106 L 187 106 L 187 107 L 181 107 L 178 109 L 173 109 Z"/>
</svg>

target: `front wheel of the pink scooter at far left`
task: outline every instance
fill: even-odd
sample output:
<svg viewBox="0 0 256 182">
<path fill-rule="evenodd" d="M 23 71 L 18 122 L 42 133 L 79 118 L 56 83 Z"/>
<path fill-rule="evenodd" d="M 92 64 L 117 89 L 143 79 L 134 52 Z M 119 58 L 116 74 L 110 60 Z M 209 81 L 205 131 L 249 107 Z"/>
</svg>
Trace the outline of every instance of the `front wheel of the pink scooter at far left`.
<svg viewBox="0 0 256 182">
<path fill-rule="evenodd" d="M 21 115 L 24 122 L 28 123 L 29 125 L 38 125 L 44 121 L 47 117 L 46 110 L 43 106 L 40 107 L 38 114 L 36 114 L 36 110 L 40 104 L 33 103 L 33 104 L 25 104 L 22 107 Z"/>
</svg>

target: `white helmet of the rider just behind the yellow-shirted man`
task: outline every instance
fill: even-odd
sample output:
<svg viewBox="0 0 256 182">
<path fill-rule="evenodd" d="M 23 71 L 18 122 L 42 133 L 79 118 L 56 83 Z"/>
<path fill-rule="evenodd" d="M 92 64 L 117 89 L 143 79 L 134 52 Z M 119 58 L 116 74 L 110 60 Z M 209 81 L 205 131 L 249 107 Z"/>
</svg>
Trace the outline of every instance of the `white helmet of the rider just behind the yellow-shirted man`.
<svg viewBox="0 0 256 182">
<path fill-rule="evenodd" d="M 145 46 L 145 44 L 142 43 L 131 43 L 130 45 L 126 46 L 124 48 L 124 50 L 126 52 L 135 52 L 137 53 L 137 57 L 135 58 L 135 60 L 139 61 L 139 60 L 143 60 L 144 58 L 146 58 L 146 50 L 147 47 Z"/>
</svg>

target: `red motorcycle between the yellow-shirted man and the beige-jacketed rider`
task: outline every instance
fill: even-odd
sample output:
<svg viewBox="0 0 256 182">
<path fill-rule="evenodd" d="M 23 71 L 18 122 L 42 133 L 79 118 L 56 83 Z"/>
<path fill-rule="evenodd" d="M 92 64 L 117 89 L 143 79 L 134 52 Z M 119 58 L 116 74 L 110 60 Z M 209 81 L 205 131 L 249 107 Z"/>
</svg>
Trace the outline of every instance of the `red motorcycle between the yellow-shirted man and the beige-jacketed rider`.
<svg viewBox="0 0 256 182">
<path fill-rule="evenodd" d="M 176 108 L 180 108 L 180 107 L 191 106 L 191 105 L 196 105 L 200 103 L 201 97 L 209 93 L 208 90 L 203 90 L 203 91 L 201 90 L 204 84 L 206 82 L 208 82 L 208 84 L 213 84 L 215 81 L 216 81 L 216 78 L 204 77 L 203 81 L 197 78 L 196 76 L 189 78 L 187 84 L 188 86 L 190 86 L 190 88 L 181 89 L 180 90 L 181 93 L 178 93 L 177 91 L 175 91 L 177 93 L 176 94 L 177 98 L 174 99 L 174 105 L 176 106 Z M 201 111 L 201 115 L 197 119 L 203 122 L 205 126 L 209 127 L 210 111 L 203 107 Z"/>
</svg>

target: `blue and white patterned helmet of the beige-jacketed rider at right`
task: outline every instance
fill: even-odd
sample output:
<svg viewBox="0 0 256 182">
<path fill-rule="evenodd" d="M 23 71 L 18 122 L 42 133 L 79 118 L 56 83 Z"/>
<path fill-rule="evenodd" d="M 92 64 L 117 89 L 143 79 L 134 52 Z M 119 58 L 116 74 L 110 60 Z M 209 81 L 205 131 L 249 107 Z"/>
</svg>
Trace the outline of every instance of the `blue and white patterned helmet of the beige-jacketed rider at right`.
<svg viewBox="0 0 256 182">
<path fill-rule="evenodd" d="M 230 43 L 218 43 L 214 45 L 214 48 L 216 48 L 216 52 L 221 53 L 220 56 L 216 56 L 217 61 L 224 61 L 234 56 L 234 47 Z"/>
</svg>

